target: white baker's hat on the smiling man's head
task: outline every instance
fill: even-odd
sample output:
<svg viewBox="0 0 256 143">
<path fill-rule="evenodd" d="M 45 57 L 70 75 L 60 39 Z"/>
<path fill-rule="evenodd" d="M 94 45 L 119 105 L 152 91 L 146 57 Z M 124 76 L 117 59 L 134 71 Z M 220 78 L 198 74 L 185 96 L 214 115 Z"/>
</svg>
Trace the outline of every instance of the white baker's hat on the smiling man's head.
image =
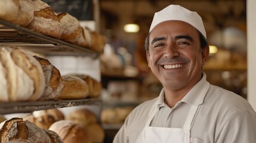
<svg viewBox="0 0 256 143">
<path fill-rule="evenodd" d="M 203 21 L 200 15 L 195 11 L 190 11 L 181 7 L 180 5 L 169 5 L 158 13 L 155 13 L 149 32 L 151 32 L 157 24 L 168 20 L 180 20 L 189 23 L 198 29 L 206 39 L 205 27 L 203 26 Z"/>
</svg>

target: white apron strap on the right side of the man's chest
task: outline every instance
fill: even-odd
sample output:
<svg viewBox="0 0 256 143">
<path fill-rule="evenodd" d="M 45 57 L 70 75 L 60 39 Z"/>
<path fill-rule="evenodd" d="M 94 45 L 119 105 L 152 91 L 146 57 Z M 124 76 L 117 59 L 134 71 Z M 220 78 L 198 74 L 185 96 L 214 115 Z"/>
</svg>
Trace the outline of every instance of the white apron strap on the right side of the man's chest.
<svg viewBox="0 0 256 143">
<path fill-rule="evenodd" d="M 187 119 L 184 123 L 183 129 L 190 130 L 192 128 L 193 119 L 196 115 L 196 111 L 198 110 L 199 105 L 192 105 L 189 110 L 189 114 L 187 115 Z"/>
</svg>

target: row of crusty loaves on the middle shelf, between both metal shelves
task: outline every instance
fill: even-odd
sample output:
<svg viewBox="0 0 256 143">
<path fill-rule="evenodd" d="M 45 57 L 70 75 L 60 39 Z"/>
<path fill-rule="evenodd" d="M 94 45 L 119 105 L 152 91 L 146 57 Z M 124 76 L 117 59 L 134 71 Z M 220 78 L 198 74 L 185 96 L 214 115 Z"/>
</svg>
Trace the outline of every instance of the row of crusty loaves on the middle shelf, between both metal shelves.
<svg viewBox="0 0 256 143">
<path fill-rule="evenodd" d="M 17 47 L 0 47 L 0 102 L 95 98 L 101 83 L 90 76 L 61 76 L 45 58 Z"/>
</svg>

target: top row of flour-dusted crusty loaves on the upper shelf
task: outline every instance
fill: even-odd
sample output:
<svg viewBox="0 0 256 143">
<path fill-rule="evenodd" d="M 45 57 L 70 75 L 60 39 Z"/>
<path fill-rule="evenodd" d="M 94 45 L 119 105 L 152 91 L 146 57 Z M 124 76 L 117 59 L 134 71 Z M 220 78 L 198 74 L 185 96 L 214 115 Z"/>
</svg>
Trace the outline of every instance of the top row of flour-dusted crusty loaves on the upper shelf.
<svg viewBox="0 0 256 143">
<path fill-rule="evenodd" d="M 38 33 L 103 52 L 106 38 L 68 13 L 54 13 L 41 0 L 1 0 L 0 18 Z"/>
</svg>

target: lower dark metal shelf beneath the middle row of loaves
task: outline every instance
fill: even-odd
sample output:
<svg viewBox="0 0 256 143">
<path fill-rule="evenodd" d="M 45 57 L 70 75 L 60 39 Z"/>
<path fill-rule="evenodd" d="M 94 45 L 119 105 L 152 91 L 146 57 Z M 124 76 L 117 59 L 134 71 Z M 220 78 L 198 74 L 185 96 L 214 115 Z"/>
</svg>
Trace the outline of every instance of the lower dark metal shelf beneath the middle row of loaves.
<svg viewBox="0 0 256 143">
<path fill-rule="evenodd" d="M 0 102 L 0 114 L 32 113 L 37 110 L 73 107 L 78 105 L 102 105 L 100 98 L 58 101 Z"/>
</svg>

